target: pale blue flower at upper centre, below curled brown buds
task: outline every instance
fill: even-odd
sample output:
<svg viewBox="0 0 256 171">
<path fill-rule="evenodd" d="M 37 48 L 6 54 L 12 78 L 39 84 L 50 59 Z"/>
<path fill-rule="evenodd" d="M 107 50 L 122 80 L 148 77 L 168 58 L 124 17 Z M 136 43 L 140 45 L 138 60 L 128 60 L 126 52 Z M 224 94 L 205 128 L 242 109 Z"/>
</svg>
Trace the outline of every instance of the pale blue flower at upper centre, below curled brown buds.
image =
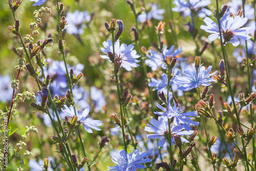
<svg viewBox="0 0 256 171">
<path fill-rule="evenodd" d="M 101 48 L 101 51 L 106 55 L 100 55 L 103 59 L 110 59 L 108 56 L 108 52 L 113 53 L 113 44 L 112 41 L 109 39 L 107 42 L 103 42 L 104 48 Z M 138 67 L 139 65 L 137 62 L 140 60 L 137 60 L 137 58 L 140 57 L 140 55 L 137 55 L 136 50 L 133 50 L 134 46 L 126 44 L 122 44 L 120 46 L 119 41 L 115 42 L 115 53 L 116 53 L 116 60 L 121 62 L 121 67 L 123 67 L 127 71 L 131 71 L 132 67 Z M 111 62 L 111 60 L 110 60 Z"/>
</svg>

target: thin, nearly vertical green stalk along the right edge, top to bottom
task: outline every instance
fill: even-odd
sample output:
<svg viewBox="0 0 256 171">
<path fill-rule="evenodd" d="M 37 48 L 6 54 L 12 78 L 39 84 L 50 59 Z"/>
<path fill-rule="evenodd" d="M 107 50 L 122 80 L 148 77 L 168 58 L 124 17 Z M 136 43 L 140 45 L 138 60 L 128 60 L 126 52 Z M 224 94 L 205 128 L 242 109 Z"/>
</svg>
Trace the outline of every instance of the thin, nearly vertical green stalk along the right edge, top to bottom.
<svg viewBox="0 0 256 171">
<path fill-rule="evenodd" d="M 244 18 L 245 18 L 245 9 L 244 9 L 244 6 L 245 6 L 245 2 L 242 1 L 243 3 L 243 14 L 244 14 Z M 253 1 L 253 8 L 254 8 L 254 11 L 255 11 L 255 1 Z M 254 17 L 254 19 L 256 20 L 256 18 Z M 245 27 L 245 26 L 244 26 Z M 250 63 L 249 63 L 249 54 L 248 54 L 248 46 L 247 46 L 247 40 L 245 40 L 245 49 L 246 49 L 246 65 L 247 65 L 247 77 L 248 77 L 248 87 L 249 87 L 249 94 L 251 94 L 251 80 L 250 80 Z M 253 112 L 252 112 L 252 104 L 250 104 L 250 118 L 251 118 L 251 127 L 253 127 Z M 255 156 L 255 153 L 256 153 L 256 149 L 255 149 L 255 139 L 252 138 L 252 157 L 253 157 L 253 160 L 254 160 L 254 163 L 256 162 L 256 156 Z M 252 161 L 253 161 L 252 160 Z M 254 164 L 255 165 L 255 164 Z"/>
</svg>

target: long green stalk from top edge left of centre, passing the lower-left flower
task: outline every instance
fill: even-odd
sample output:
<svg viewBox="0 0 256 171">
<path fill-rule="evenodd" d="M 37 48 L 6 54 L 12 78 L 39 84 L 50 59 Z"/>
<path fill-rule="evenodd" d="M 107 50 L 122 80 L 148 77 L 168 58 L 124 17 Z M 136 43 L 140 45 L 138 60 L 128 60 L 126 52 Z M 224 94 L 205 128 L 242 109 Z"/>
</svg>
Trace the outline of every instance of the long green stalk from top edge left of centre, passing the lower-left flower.
<svg viewBox="0 0 256 171">
<path fill-rule="evenodd" d="M 59 11 L 59 5 L 58 5 L 59 2 L 58 2 L 58 0 L 56 0 L 56 3 L 57 3 L 56 4 L 56 6 L 57 6 L 57 13 L 58 13 L 58 24 L 59 24 L 59 22 L 60 22 L 60 11 Z M 62 44 L 62 34 L 61 34 L 60 30 L 59 30 L 59 38 L 60 38 L 60 45 L 61 45 L 61 47 L 63 47 L 63 44 Z M 65 58 L 65 55 L 64 55 L 63 48 L 60 49 L 60 52 L 62 54 L 62 58 L 63 58 L 63 61 L 65 63 L 65 69 L 66 69 L 66 73 L 67 73 L 67 79 L 68 79 L 68 84 L 69 84 L 69 88 L 70 88 L 70 93 L 71 93 L 72 98 L 73 98 L 74 95 L 73 95 L 72 85 L 71 85 L 71 81 L 70 81 L 69 71 L 68 71 L 67 62 L 66 62 L 66 58 Z M 74 108 L 75 116 L 77 116 L 76 110 L 75 110 L 75 105 L 73 105 L 73 108 Z M 84 155 L 84 157 L 87 157 L 86 151 L 84 149 L 84 145 L 83 145 L 83 142 L 82 142 L 82 139 L 81 139 L 80 130 L 79 130 L 79 126 L 78 125 L 77 125 L 77 131 L 78 131 L 78 137 L 79 137 L 79 140 L 80 140 L 80 143 L 81 143 L 83 155 Z M 87 163 L 88 163 L 88 161 L 87 161 Z M 91 170 L 90 165 L 88 165 L 88 168 L 89 168 L 89 170 Z"/>
</svg>

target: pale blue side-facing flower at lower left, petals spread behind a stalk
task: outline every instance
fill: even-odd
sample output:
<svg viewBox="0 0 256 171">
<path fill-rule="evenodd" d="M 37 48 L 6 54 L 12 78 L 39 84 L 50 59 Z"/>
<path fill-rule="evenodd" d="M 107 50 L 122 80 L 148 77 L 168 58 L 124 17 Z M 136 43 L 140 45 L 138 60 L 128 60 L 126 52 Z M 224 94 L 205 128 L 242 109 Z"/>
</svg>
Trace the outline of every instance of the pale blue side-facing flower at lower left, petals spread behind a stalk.
<svg viewBox="0 0 256 171">
<path fill-rule="evenodd" d="M 71 106 L 70 108 L 68 108 L 67 105 L 64 105 L 65 109 L 61 109 L 62 112 L 64 112 L 66 115 L 73 117 L 75 116 L 75 112 L 74 112 L 74 108 L 73 106 Z M 84 111 L 82 112 L 78 112 L 77 109 L 76 110 L 76 114 L 77 114 L 77 121 L 78 123 L 83 124 L 84 129 L 86 129 L 86 131 L 88 133 L 93 133 L 93 131 L 91 130 L 97 130 L 100 131 L 101 129 L 98 126 L 102 125 L 102 121 L 101 120 L 93 120 L 90 116 L 89 116 L 89 109 L 86 108 Z"/>
</svg>

